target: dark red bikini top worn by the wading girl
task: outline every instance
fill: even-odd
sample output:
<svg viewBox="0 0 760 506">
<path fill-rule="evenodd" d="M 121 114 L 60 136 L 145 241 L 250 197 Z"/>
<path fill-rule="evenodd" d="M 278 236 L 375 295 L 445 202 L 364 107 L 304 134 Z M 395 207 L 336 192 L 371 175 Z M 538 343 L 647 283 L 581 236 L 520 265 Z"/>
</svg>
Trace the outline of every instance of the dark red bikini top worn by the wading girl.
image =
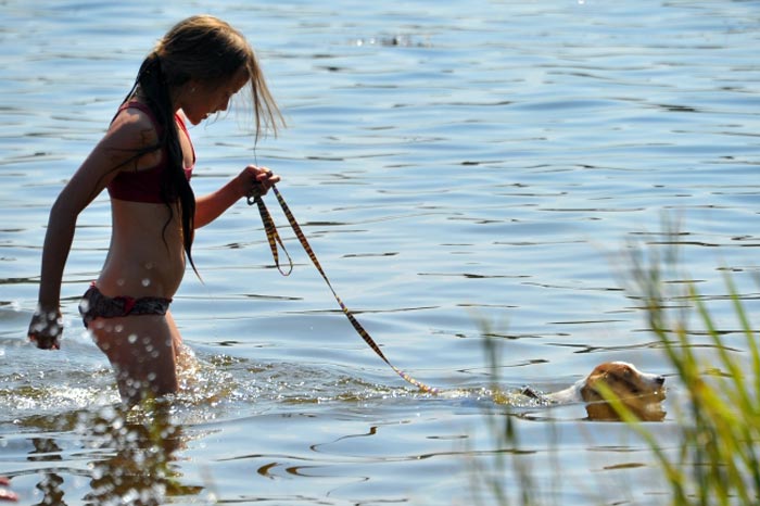
<svg viewBox="0 0 760 506">
<path fill-rule="evenodd" d="M 161 135 L 159 122 L 156 122 L 153 111 L 151 111 L 148 105 L 141 102 L 127 102 L 118 107 L 118 111 L 122 112 L 126 109 L 138 109 L 148 114 L 156 132 Z M 190 140 L 190 135 L 188 134 L 182 117 L 176 114 L 175 119 L 188 137 L 188 140 Z M 192 149 L 192 166 L 185 167 L 185 177 L 188 178 L 188 181 L 192 176 L 192 169 L 195 167 L 195 149 L 192 148 L 192 141 L 190 142 L 190 148 Z M 166 150 L 162 149 L 161 161 L 156 165 L 140 170 L 123 170 L 118 173 L 107 186 L 109 194 L 112 199 L 126 200 L 129 202 L 162 204 L 164 201 L 161 199 L 161 178 L 163 172 L 167 168 L 166 160 Z"/>
</svg>

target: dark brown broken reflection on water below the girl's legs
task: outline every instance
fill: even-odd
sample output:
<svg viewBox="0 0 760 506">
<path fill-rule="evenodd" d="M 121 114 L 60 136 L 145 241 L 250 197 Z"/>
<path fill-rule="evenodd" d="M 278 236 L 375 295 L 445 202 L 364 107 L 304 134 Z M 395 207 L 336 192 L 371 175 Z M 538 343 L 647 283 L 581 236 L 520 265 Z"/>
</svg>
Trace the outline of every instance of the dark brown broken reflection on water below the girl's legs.
<svg viewBox="0 0 760 506">
<path fill-rule="evenodd" d="M 84 446 L 63 448 L 50 437 L 28 439 L 27 460 L 42 467 L 36 472 L 36 504 L 66 505 L 71 499 L 71 504 L 149 506 L 203 491 L 203 486 L 181 483 L 175 454 L 185 442 L 181 428 L 172 422 L 168 405 L 137 413 L 114 408 L 78 412 L 63 422 L 51 417 L 50 423 L 59 431 L 75 433 Z M 89 480 L 89 492 L 84 497 L 66 497 L 66 481 L 83 478 Z"/>
</svg>

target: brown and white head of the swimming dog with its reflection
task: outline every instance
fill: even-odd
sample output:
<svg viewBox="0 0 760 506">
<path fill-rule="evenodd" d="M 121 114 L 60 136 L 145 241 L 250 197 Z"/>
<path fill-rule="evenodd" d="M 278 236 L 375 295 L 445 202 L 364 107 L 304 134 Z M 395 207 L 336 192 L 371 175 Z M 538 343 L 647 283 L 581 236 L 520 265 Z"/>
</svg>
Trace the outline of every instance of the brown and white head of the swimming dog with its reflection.
<svg viewBox="0 0 760 506">
<path fill-rule="evenodd" d="M 663 376 L 642 372 L 624 362 L 609 362 L 596 366 L 581 387 L 581 396 L 586 403 L 588 418 L 619 420 L 620 416 L 601 395 L 600 384 L 605 384 L 641 420 L 660 421 L 664 418 Z"/>
</svg>

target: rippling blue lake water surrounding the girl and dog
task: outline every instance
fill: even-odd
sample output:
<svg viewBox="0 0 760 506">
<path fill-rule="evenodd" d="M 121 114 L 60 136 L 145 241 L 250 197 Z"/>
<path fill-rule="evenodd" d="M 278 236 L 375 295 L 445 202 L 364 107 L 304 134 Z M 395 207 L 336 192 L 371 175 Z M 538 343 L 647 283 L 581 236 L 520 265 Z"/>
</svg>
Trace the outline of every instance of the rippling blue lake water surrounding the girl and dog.
<svg viewBox="0 0 760 506">
<path fill-rule="evenodd" d="M 632 362 L 668 377 L 649 428 L 677 448 L 674 370 L 621 288 L 631 241 L 679 243 L 671 281 L 695 281 L 744 356 L 723 275 L 757 314 L 759 7 L 0 1 L 0 476 L 22 504 L 496 504 L 521 483 L 548 504 L 666 503 L 624 425 L 485 390 Z M 104 194 L 79 218 L 62 350 L 26 342 L 53 199 L 153 42 L 198 12 L 246 34 L 289 128 L 255 151 L 242 107 L 193 128 L 195 192 L 253 162 L 281 174 L 338 293 L 445 395 L 354 333 L 271 195 L 294 273 L 273 268 L 244 202 L 199 232 L 204 283 L 189 274 L 173 313 L 203 367 L 170 413 L 114 412 L 77 316 L 109 243 Z M 519 445 L 494 434 L 507 419 Z"/>
</svg>

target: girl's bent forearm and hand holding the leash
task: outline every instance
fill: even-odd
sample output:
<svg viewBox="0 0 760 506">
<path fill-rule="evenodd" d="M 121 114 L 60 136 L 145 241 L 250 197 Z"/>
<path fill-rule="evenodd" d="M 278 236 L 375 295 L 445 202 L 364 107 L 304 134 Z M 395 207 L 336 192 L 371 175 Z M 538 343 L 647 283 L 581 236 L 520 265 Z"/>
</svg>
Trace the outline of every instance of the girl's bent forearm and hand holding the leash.
<svg viewBox="0 0 760 506">
<path fill-rule="evenodd" d="M 215 192 L 195 199 L 195 228 L 201 228 L 218 218 L 232 204 L 246 197 L 255 185 L 259 186 L 258 189 L 264 194 L 279 180 L 280 177 L 274 175 L 268 168 L 249 165 Z"/>
</svg>

